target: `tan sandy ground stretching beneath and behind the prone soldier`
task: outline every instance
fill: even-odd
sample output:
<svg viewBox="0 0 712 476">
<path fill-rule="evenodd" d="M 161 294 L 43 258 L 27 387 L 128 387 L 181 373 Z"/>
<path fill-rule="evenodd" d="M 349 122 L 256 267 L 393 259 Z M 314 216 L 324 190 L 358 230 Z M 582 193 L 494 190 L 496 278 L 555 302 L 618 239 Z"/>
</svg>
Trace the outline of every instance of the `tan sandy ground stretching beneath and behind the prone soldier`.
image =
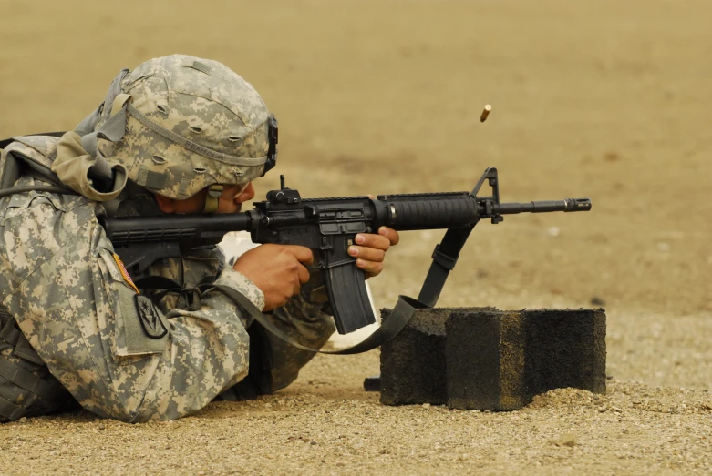
<svg viewBox="0 0 712 476">
<path fill-rule="evenodd" d="M 389 408 L 378 355 L 318 357 L 294 386 L 175 422 L 68 414 L 0 426 L 0 473 L 712 472 L 708 247 L 712 6 L 702 0 L 0 0 L 0 136 L 63 130 L 121 67 L 221 60 L 280 120 L 304 197 L 470 190 L 591 197 L 593 211 L 483 223 L 439 305 L 608 316 L 608 394 L 523 410 Z M 481 107 L 494 107 L 479 123 Z M 258 194 L 278 183 L 265 177 Z M 371 283 L 415 295 L 440 233 L 404 233 Z"/>
</svg>

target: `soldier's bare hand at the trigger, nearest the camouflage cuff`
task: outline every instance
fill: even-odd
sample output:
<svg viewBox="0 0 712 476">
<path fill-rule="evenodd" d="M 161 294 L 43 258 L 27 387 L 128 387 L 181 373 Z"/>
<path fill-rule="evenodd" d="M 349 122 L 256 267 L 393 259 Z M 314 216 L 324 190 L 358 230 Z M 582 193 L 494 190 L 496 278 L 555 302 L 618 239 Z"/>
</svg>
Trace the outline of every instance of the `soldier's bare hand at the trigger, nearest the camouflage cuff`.
<svg viewBox="0 0 712 476">
<path fill-rule="evenodd" d="M 232 269 L 251 279 L 264 293 L 264 309 L 284 306 L 309 280 L 304 265 L 314 261 L 312 250 L 290 245 L 261 245 L 244 253 Z"/>
</svg>

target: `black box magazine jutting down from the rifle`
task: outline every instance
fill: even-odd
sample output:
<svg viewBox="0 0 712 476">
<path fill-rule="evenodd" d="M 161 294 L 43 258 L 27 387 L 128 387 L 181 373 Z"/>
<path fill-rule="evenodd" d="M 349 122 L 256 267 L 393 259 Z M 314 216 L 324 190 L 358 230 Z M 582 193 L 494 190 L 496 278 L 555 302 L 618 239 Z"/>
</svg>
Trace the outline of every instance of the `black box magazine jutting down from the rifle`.
<svg viewBox="0 0 712 476">
<path fill-rule="evenodd" d="M 325 269 L 326 289 L 339 334 L 348 334 L 376 322 L 366 291 L 363 269 L 356 261 Z"/>
</svg>

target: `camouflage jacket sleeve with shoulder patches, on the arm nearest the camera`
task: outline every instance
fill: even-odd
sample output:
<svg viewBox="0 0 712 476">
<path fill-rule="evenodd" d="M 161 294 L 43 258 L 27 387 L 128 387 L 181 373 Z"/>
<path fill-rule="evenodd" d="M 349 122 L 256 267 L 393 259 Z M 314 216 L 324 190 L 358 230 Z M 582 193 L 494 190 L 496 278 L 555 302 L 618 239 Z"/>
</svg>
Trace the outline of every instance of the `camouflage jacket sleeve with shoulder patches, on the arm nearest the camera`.
<svg viewBox="0 0 712 476">
<path fill-rule="evenodd" d="M 7 258 L 26 274 L 4 304 L 85 409 L 176 419 L 246 375 L 249 338 L 232 300 L 209 293 L 201 309 L 163 313 L 122 274 L 93 209 L 30 211 L 5 222 Z M 254 285 L 236 275 L 219 279 L 259 304 Z"/>
</svg>

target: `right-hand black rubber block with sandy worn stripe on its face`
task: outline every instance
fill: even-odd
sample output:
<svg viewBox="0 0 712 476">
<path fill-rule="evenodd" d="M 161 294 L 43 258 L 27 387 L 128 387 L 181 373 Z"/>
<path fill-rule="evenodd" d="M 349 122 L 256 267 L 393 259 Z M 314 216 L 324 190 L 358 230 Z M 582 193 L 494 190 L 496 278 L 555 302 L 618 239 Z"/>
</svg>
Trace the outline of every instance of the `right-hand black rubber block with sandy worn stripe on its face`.
<svg viewBox="0 0 712 476">
<path fill-rule="evenodd" d="M 516 410 L 565 387 L 605 393 L 604 309 L 459 311 L 445 328 L 450 408 Z"/>
</svg>

